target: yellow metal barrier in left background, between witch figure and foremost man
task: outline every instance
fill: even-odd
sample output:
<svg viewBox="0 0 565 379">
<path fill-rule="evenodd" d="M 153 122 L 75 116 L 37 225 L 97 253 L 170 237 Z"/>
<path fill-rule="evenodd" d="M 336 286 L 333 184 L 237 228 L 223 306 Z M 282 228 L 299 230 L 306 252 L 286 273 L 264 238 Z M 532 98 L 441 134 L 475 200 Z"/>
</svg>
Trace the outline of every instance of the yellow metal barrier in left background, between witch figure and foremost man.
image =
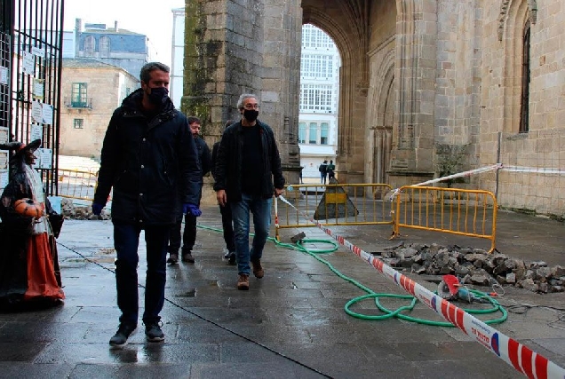
<svg viewBox="0 0 565 379">
<path fill-rule="evenodd" d="M 94 200 L 98 170 L 58 170 L 58 193 L 71 199 Z"/>
</svg>

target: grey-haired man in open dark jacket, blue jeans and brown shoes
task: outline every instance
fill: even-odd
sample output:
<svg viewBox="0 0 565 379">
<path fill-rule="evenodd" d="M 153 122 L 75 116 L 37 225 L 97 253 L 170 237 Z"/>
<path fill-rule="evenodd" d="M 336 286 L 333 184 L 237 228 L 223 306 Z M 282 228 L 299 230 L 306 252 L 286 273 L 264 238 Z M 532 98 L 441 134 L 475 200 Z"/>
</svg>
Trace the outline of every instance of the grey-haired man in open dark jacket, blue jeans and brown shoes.
<svg viewBox="0 0 565 379">
<path fill-rule="evenodd" d="M 235 233 L 238 289 L 249 289 L 252 272 L 261 279 L 263 248 L 271 225 L 273 196 L 283 193 L 281 158 L 273 130 L 258 120 L 257 96 L 243 94 L 237 101 L 240 122 L 229 126 L 219 143 L 214 190 L 220 206 L 231 207 Z M 254 237 L 249 247 L 250 217 Z M 251 263 L 251 266 L 250 266 Z"/>
</svg>

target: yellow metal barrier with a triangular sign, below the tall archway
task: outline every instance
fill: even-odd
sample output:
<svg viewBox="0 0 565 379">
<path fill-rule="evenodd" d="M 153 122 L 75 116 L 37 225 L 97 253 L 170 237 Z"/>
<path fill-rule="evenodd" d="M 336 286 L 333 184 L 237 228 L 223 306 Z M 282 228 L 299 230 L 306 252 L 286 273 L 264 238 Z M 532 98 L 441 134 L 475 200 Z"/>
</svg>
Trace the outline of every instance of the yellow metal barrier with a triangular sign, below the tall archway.
<svg viewBox="0 0 565 379">
<path fill-rule="evenodd" d="M 283 201 L 278 205 L 280 228 L 315 226 L 300 212 L 322 225 L 392 225 L 392 203 L 384 200 L 392 190 L 386 184 L 330 184 L 286 186 Z"/>
</svg>

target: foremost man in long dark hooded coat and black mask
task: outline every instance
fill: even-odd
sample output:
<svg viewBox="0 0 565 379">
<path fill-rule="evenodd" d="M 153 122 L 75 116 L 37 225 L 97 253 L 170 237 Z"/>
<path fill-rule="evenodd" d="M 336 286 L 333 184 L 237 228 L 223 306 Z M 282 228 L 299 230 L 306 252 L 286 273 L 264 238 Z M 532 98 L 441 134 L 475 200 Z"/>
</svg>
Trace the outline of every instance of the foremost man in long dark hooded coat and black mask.
<svg viewBox="0 0 565 379">
<path fill-rule="evenodd" d="M 143 323 L 150 342 L 161 330 L 169 229 L 180 209 L 195 216 L 202 175 L 187 118 L 168 96 L 169 67 L 141 68 L 141 88 L 123 99 L 107 127 L 92 213 L 99 215 L 114 188 L 115 282 L 122 315 L 110 344 L 122 347 L 137 328 L 139 233 L 145 230 L 147 277 Z M 181 202 L 181 203 L 180 203 Z"/>
</svg>

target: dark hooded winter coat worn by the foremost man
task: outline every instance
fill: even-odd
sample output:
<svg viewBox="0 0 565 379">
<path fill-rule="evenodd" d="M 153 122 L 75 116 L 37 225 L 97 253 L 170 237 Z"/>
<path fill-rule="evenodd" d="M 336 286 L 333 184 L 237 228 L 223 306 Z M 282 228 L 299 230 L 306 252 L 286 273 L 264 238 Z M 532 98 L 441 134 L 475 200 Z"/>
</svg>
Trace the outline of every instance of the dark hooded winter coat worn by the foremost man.
<svg viewBox="0 0 565 379">
<path fill-rule="evenodd" d="M 134 91 L 112 115 L 94 201 L 106 204 L 114 187 L 114 222 L 173 224 L 179 201 L 198 204 L 202 171 L 195 138 L 171 99 L 149 120 L 142 98 L 141 89 Z"/>
</svg>

